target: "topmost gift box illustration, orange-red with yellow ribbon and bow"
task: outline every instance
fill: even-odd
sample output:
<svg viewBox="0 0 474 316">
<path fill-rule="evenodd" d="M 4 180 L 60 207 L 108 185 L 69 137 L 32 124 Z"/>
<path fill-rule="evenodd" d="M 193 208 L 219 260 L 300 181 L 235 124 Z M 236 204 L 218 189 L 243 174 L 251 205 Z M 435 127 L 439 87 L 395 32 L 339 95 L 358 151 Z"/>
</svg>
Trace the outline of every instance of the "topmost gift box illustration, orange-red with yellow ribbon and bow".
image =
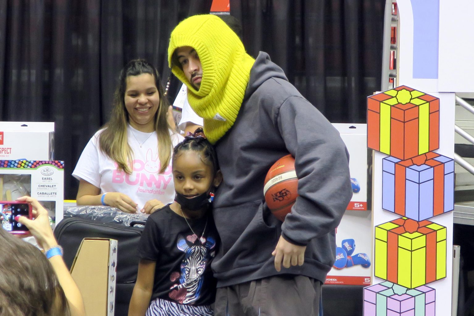
<svg viewBox="0 0 474 316">
<path fill-rule="evenodd" d="M 402 160 L 439 148 L 439 99 L 400 86 L 367 98 L 367 147 Z"/>
</svg>

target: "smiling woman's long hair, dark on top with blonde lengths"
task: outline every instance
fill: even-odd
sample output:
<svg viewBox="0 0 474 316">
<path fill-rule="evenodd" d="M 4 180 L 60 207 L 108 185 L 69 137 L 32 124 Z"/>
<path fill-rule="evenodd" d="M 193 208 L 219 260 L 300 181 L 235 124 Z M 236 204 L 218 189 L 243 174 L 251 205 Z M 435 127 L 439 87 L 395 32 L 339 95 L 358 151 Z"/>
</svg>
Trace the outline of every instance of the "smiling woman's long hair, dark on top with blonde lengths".
<svg viewBox="0 0 474 316">
<path fill-rule="evenodd" d="M 138 76 L 142 73 L 149 73 L 155 78 L 156 89 L 160 97 L 155 115 L 155 132 L 158 138 L 158 157 L 161 164 L 159 173 L 163 173 L 170 163 L 173 145 L 168 122 L 166 121 L 169 104 L 163 95 L 163 87 L 160 83 L 158 71 L 151 63 L 143 59 L 128 62 L 120 72 L 118 87 L 114 95 L 112 115 L 99 135 L 99 147 L 103 153 L 118 164 L 118 170 L 128 174 L 132 173 L 133 152 L 127 141 L 128 112 L 125 108 L 124 98 L 127 90 L 127 77 Z"/>
</svg>

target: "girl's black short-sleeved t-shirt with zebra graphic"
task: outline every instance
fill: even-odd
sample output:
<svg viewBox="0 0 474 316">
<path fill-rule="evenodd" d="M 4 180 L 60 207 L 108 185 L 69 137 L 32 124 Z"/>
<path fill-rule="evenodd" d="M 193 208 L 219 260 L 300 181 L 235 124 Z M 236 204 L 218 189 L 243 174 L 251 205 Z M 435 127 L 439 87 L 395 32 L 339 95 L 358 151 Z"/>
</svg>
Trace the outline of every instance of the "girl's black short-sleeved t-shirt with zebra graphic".
<svg viewBox="0 0 474 316">
<path fill-rule="evenodd" d="M 187 219 L 197 236 L 169 205 L 148 217 L 138 256 L 156 262 L 152 300 L 197 306 L 214 302 L 216 280 L 210 262 L 218 249 L 218 233 L 211 213 Z"/>
</svg>

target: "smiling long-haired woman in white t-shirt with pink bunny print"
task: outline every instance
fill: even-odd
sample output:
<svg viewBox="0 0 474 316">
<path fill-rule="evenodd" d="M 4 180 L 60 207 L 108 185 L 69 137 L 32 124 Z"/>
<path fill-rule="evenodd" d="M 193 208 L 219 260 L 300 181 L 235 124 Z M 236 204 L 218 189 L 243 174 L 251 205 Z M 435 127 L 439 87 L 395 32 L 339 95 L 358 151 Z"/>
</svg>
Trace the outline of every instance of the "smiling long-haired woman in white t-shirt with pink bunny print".
<svg viewBox="0 0 474 316">
<path fill-rule="evenodd" d="M 132 60 L 120 72 L 110 121 L 77 162 L 78 205 L 153 213 L 173 202 L 172 148 L 182 140 L 168 126 L 169 105 L 155 67 Z"/>
</svg>

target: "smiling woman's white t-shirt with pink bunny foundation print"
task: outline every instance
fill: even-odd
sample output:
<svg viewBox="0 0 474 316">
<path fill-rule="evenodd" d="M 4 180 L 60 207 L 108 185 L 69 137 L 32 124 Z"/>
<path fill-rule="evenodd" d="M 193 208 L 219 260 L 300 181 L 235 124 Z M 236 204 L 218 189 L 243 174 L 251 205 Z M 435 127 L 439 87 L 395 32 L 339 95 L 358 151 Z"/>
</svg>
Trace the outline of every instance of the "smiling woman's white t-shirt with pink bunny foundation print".
<svg viewBox="0 0 474 316">
<path fill-rule="evenodd" d="M 82 151 L 73 177 L 100 188 L 101 193 L 127 194 L 138 204 L 138 209 L 142 209 L 146 201 L 151 199 L 157 199 L 165 205 L 172 203 L 175 192 L 171 160 L 164 173 L 158 173 L 160 160 L 156 133 L 143 133 L 130 125 L 127 131 L 128 144 L 132 148 L 134 157 L 131 174 L 117 170 L 117 163 L 100 151 L 98 136 L 102 130 L 99 130 Z M 183 140 L 179 134 L 171 131 L 170 134 L 173 147 Z"/>
</svg>

